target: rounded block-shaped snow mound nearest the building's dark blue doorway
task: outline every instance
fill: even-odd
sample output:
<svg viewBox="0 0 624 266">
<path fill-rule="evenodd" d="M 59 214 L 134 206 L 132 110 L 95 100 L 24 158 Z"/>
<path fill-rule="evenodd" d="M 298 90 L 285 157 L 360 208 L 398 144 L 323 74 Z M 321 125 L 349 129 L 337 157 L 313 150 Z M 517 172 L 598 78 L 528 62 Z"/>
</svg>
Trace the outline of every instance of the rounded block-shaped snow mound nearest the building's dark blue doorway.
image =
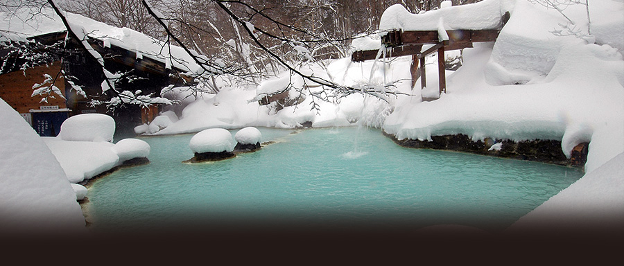
<svg viewBox="0 0 624 266">
<path fill-rule="evenodd" d="M 67 118 L 58 137 L 64 141 L 112 142 L 115 121 L 105 114 L 78 114 Z"/>
</svg>

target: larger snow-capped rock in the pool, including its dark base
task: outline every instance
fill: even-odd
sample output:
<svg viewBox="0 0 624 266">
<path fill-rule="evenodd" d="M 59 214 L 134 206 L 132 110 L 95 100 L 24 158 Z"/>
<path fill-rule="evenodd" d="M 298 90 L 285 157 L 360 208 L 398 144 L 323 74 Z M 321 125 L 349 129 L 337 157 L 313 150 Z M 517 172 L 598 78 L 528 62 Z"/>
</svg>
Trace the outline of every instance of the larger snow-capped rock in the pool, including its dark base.
<svg viewBox="0 0 624 266">
<path fill-rule="evenodd" d="M 191 162 L 216 161 L 234 157 L 234 138 L 223 128 L 211 128 L 195 134 L 189 143 L 195 157 Z"/>
</svg>

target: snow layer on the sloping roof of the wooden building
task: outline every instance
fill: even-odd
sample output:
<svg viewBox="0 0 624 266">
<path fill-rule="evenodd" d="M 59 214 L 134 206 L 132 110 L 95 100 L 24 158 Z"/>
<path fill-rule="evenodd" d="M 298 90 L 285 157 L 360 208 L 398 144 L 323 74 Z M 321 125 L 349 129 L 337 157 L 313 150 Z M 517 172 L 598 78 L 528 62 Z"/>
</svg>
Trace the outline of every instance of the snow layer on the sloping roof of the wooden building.
<svg viewBox="0 0 624 266">
<path fill-rule="evenodd" d="M 149 57 L 183 71 L 193 73 L 200 71 L 198 64 L 193 62 L 191 56 L 180 46 L 171 46 L 171 55 L 177 58 L 171 63 L 168 62 L 170 49 L 163 48 L 164 42 L 158 39 L 130 28 L 117 28 L 70 12 L 67 12 L 66 17 L 74 30 L 82 29 L 87 36 L 102 40 L 105 46 L 118 46 L 137 53 L 139 58 Z M 28 8 L 15 12 L 0 12 L 0 42 L 26 41 L 28 37 L 65 30 L 60 17 L 51 8 L 43 8 L 35 15 Z"/>
</svg>

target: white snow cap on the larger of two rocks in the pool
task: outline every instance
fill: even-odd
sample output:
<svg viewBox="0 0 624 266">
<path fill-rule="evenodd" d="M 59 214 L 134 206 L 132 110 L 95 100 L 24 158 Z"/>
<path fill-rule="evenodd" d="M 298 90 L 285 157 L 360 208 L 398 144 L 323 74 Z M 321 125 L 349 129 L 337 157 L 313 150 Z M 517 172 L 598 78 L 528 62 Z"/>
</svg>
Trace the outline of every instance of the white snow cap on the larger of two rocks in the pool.
<svg viewBox="0 0 624 266">
<path fill-rule="evenodd" d="M 193 152 L 232 152 L 234 138 L 232 133 L 223 128 L 202 130 L 191 138 L 189 147 Z"/>
</svg>

